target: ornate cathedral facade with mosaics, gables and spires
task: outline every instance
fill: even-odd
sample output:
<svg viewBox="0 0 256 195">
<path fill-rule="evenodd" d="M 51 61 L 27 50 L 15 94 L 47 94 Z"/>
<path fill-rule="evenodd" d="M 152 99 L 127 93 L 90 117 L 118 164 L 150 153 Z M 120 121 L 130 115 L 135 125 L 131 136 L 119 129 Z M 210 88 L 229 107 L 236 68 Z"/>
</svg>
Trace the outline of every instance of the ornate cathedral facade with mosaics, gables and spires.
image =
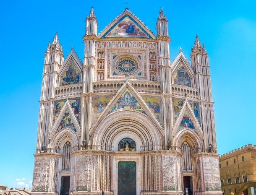
<svg viewBox="0 0 256 195">
<path fill-rule="evenodd" d="M 221 194 L 208 55 L 196 36 L 170 62 L 167 22 L 125 9 L 98 34 L 91 8 L 83 62 L 49 42 L 31 194 Z"/>
</svg>

